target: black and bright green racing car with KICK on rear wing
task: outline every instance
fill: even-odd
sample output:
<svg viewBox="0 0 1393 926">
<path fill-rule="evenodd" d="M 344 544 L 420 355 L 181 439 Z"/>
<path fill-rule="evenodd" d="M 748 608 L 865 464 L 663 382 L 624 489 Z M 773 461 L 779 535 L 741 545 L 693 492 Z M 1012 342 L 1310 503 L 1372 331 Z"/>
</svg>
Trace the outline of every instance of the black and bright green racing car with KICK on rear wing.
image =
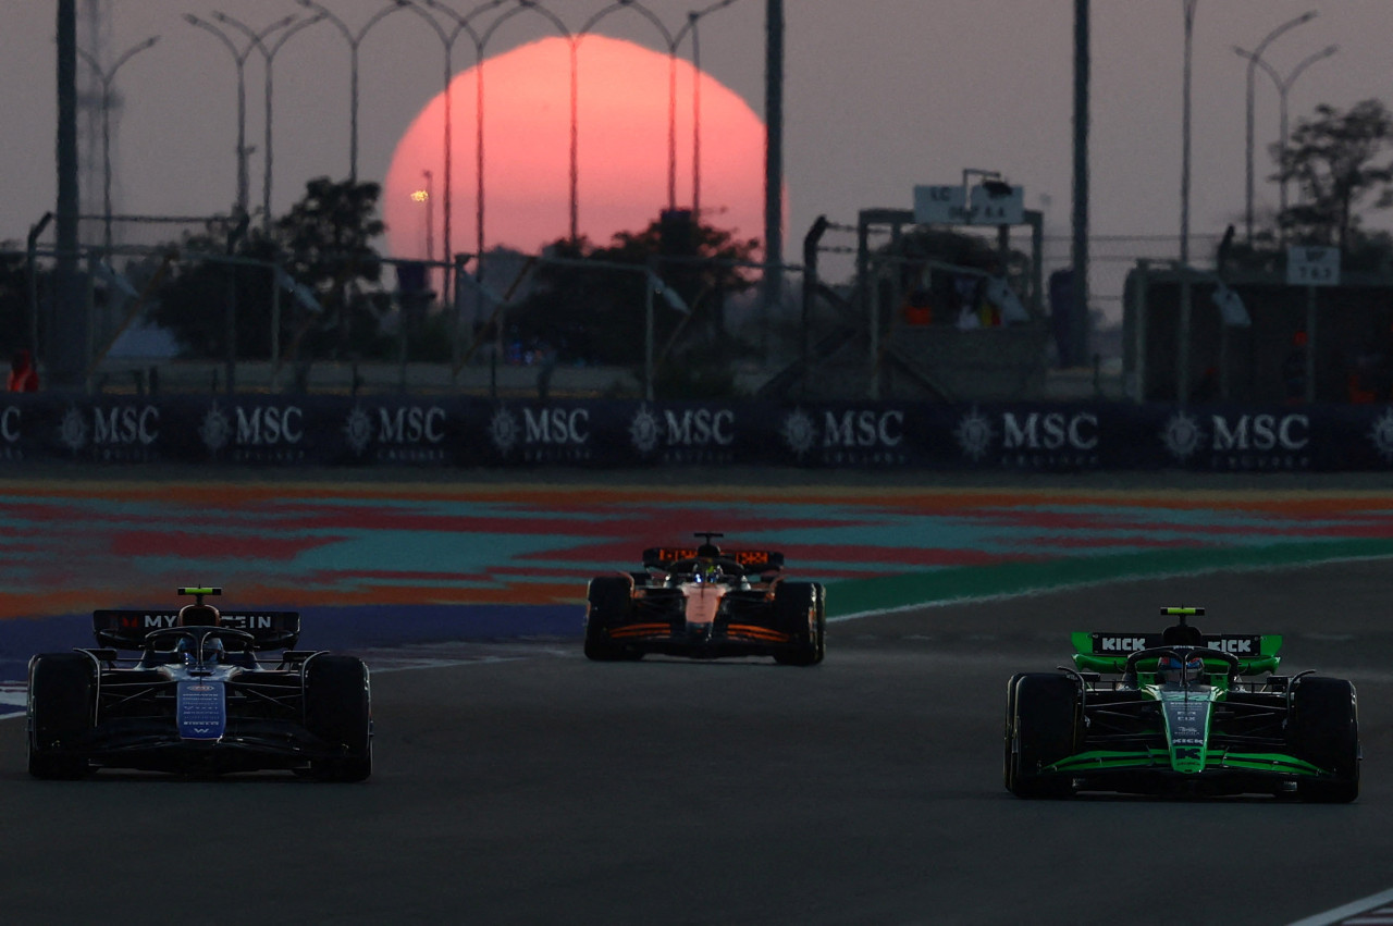
<svg viewBox="0 0 1393 926">
<path fill-rule="evenodd" d="M 1188 621 L 1202 607 L 1162 614 L 1176 618 L 1162 634 L 1075 632 L 1073 667 L 1011 678 L 1009 791 L 1358 796 L 1354 685 L 1277 675 L 1282 636 L 1202 634 Z"/>
</svg>

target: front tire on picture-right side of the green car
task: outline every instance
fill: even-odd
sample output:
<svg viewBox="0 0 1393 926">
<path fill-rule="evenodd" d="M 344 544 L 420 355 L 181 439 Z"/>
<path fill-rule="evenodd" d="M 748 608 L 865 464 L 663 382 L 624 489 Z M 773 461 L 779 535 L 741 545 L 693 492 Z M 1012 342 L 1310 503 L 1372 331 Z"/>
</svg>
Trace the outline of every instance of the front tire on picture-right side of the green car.
<svg viewBox="0 0 1393 926">
<path fill-rule="evenodd" d="M 1301 778 L 1297 796 L 1318 803 L 1348 803 L 1360 796 L 1360 712 L 1354 685 L 1343 678 L 1305 675 L 1291 693 L 1291 751 L 1334 771 L 1332 778 Z"/>
</svg>

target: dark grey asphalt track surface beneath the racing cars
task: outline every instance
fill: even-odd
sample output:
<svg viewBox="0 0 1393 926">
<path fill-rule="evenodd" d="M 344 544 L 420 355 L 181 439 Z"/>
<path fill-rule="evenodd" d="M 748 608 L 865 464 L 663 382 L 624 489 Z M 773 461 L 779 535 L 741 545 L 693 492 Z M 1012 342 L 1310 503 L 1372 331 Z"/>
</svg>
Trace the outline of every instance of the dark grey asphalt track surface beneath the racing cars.
<svg viewBox="0 0 1393 926">
<path fill-rule="evenodd" d="M 1389 568 L 862 617 L 833 624 L 815 668 L 598 664 L 566 641 L 368 653 L 378 766 L 355 785 L 35 781 L 22 721 L 0 723 L 0 918 L 1289 923 L 1393 881 Z M 1208 607 L 1213 631 L 1284 634 L 1284 670 L 1358 685 L 1358 802 L 1003 790 L 1006 680 L 1061 664 L 1074 629 L 1159 629 L 1165 604 Z"/>
</svg>

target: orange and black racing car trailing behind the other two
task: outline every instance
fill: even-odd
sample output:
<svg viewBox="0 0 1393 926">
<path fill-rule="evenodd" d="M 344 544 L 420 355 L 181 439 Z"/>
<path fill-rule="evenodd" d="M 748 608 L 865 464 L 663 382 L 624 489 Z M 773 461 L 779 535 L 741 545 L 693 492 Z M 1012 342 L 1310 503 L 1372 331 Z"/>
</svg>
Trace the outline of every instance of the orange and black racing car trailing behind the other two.
<svg viewBox="0 0 1393 926">
<path fill-rule="evenodd" d="M 717 659 L 772 656 L 815 666 L 826 652 L 826 592 L 788 582 L 783 553 L 722 550 L 713 531 L 692 547 L 644 550 L 642 572 L 591 579 L 585 654 L 598 661 L 645 653 Z"/>
</svg>

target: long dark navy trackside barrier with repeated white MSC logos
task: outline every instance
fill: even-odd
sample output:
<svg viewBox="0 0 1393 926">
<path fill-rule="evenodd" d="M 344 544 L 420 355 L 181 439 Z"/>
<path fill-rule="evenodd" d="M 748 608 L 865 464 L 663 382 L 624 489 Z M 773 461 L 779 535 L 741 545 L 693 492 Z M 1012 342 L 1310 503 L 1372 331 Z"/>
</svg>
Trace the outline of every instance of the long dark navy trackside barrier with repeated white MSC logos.
<svg viewBox="0 0 1393 926">
<path fill-rule="evenodd" d="M 42 461 L 1371 471 L 1393 469 L 1393 407 L 57 393 L 0 401 L 0 473 Z"/>
</svg>

